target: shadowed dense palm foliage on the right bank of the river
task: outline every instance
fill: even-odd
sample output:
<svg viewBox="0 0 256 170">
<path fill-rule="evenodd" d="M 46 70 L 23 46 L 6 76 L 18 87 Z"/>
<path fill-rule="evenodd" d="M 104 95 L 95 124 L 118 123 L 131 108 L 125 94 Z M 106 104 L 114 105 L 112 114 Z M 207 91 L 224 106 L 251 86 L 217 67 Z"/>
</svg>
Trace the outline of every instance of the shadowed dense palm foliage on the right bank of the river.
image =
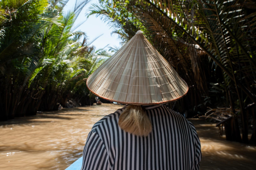
<svg viewBox="0 0 256 170">
<path fill-rule="evenodd" d="M 252 130 L 255 142 L 254 1 L 100 0 L 90 14 L 108 21 L 124 43 L 144 31 L 189 85 L 188 95 L 173 103 L 176 110 L 200 116 L 207 107 L 224 108 L 208 117 L 232 118 L 223 122 L 228 140 L 248 142 Z"/>
</svg>

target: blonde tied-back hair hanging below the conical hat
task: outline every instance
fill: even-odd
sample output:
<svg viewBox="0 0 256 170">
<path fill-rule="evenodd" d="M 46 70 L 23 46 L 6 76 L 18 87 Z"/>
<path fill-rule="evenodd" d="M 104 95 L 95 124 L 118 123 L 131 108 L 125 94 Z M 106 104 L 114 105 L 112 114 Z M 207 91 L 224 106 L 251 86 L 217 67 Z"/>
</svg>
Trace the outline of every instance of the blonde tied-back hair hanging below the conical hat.
<svg viewBox="0 0 256 170">
<path fill-rule="evenodd" d="M 148 136 L 152 131 L 148 115 L 138 105 L 126 106 L 119 117 L 118 124 L 124 131 L 137 136 Z"/>
</svg>

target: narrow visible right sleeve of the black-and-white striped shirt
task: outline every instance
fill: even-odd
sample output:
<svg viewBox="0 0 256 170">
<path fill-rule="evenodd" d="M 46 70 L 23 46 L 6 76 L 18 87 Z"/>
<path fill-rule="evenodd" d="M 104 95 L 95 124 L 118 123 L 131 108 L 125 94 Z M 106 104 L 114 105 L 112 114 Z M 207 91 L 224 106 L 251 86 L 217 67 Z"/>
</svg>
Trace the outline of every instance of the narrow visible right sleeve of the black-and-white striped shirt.
<svg viewBox="0 0 256 170">
<path fill-rule="evenodd" d="M 200 161 L 202 159 L 201 143 L 200 143 L 199 137 L 197 135 L 195 126 L 191 122 L 188 122 L 188 123 L 193 131 L 193 136 L 194 136 L 194 141 L 195 141 L 195 151 L 196 152 L 195 152 L 193 170 L 199 170 Z"/>
</svg>

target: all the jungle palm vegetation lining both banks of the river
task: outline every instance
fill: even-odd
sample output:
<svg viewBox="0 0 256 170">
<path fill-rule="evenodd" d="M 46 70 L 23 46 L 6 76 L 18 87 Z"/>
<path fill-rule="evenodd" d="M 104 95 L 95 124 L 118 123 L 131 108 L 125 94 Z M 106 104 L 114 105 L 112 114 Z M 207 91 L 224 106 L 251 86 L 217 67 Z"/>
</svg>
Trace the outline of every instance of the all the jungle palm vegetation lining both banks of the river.
<svg viewBox="0 0 256 170">
<path fill-rule="evenodd" d="M 74 31 L 87 2 L 63 13 L 64 0 L 0 1 L 0 120 L 58 110 L 69 98 L 89 103 L 85 81 L 109 55 Z M 227 140 L 256 142 L 255 1 L 99 0 L 89 12 L 123 44 L 144 32 L 189 85 L 174 110 L 215 120 Z"/>
</svg>

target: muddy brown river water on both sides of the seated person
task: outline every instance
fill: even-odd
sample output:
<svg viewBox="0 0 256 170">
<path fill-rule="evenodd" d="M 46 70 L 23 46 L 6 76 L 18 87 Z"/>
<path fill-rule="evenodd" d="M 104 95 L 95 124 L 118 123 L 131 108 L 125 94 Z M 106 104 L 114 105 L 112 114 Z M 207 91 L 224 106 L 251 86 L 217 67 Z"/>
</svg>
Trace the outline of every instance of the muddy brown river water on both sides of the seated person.
<svg viewBox="0 0 256 170">
<path fill-rule="evenodd" d="M 103 104 L 62 109 L 0 122 L 0 169 L 65 169 L 82 156 L 92 125 L 121 107 Z M 200 119 L 190 121 L 201 140 L 200 169 L 256 169 L 255 146 L 219 138 L 215 124 Z"/>
</svg>

